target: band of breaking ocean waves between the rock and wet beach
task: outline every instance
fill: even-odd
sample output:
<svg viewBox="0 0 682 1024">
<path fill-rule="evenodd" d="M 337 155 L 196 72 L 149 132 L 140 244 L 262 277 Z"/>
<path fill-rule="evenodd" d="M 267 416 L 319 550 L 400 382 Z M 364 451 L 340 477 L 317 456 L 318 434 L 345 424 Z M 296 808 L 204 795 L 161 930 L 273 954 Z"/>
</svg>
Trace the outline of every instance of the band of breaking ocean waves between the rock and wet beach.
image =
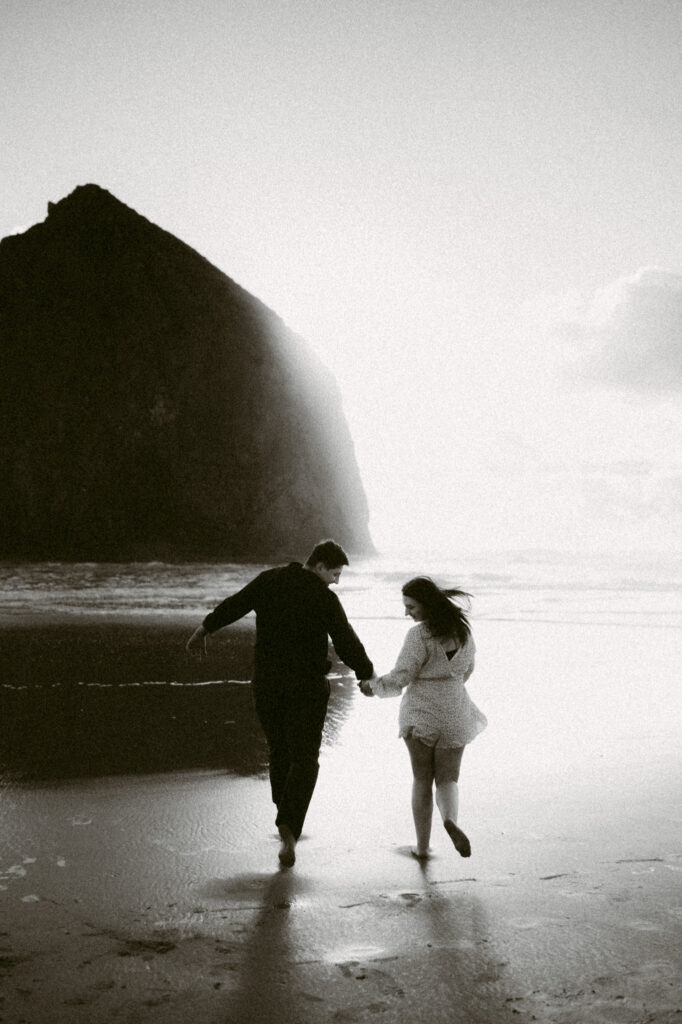
<svg viewBox="0 0 682 1024">
<path fill-rule="evenodd" d="M 0 622 L 68 615 L 203 615 L 264 565 L 0 564 Z M 474 621 L 682 626 L 681 555 L 513 552 L 353 561 L 337 593 L 354 623 L 402 615 L 401 584 L 431 575 L 474 596 Z"/>
</svg>

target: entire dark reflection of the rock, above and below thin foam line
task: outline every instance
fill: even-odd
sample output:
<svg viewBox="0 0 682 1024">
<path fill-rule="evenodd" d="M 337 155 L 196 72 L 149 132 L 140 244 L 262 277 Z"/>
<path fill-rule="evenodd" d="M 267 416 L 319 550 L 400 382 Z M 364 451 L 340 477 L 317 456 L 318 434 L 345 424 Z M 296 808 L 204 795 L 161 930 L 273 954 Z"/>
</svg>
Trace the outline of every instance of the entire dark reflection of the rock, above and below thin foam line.
<svg viewBox="0 0 682 1024">
<path fill-rule="evenodd" d="M 202 663 L 174 623 L 3 629 L 0 773 L 18 779 L 224 768 L 267 770 L 251 685 L 253 632 L 225 632 Z M 335 670 L 325 742 L 353 696 Z"/>
</svg>

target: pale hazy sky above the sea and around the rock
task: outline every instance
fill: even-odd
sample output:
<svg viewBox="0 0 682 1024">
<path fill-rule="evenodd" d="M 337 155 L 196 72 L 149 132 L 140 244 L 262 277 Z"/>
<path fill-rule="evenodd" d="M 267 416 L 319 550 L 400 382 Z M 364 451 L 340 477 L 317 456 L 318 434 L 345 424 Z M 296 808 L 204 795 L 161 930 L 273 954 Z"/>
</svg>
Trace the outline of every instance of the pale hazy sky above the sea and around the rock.
<svg viewBox="0 0 682 1024">
<path fill-rule="evenodd" d="M 679 0 L 0 11 L 0 236 L 96 182 L 271 306 L 380 548 L 680 551 Z"/>
</svg>

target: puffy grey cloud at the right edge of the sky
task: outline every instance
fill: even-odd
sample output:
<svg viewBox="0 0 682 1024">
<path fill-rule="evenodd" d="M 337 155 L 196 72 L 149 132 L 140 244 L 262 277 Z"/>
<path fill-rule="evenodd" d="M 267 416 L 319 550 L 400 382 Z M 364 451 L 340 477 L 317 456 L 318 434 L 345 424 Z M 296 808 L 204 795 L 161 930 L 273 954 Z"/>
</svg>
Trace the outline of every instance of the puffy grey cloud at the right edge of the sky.
<svg viewBox="0 0 682 1024">
<path fill-rule="evenodd" d="M 643 267 L 598 291 L 580 312 L 573 305 L 554 326 L 573 345 L 573 379 L 682 393 L 682 274 Z"/>
</svg>

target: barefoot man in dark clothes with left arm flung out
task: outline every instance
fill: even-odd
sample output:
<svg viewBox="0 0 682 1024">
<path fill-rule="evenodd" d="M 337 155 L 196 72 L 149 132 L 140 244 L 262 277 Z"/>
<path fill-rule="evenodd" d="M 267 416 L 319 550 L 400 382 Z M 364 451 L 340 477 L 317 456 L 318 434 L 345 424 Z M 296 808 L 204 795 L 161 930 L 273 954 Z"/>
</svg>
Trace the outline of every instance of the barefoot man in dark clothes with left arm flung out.
<svg viewBox="0 0 682 1024">
<path fill-rule="evenodd" d="M 286 867 L 296 860 L 296 843 L 317 780 L 330 696 L 329 638 L 358 680 L 374 673 L 341 602 L 329 589 L 347 564 L 338 544 L 322 541 L 305 565 L 291 562 L 266 569 L 222 601 L 186 644 L 189 653 L 201 653 L 207 635 L 256 612 L 253 690 L 269 749 L 275 824 L 282 840 L 280 862 Z"/>
</svg>

